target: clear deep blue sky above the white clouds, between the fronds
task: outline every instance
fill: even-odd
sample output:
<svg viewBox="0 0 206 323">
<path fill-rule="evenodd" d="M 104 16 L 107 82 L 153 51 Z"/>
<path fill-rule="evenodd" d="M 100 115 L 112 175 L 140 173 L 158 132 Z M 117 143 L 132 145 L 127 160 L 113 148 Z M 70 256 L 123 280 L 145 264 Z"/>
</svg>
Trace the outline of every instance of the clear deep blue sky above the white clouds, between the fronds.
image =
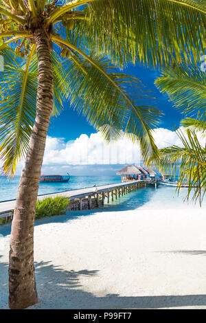
<svg viewBox="0 0 206 323">
<path fill-rule="evenodd" d="M 164 113 L 159 126 L 166 129 L 171 129 L 174 125 L 179 126 L 181 114 L 172 107 L 172 103 L 168 101 L 168 96 L 160 93 L 154 85 L 159 72 L 141 66 L 130 66 L 124 72 L 139 78 L 148 89 L 152 90 L 152 95 L 154 93 L 155 98 L 157 98 L 156 105 Z M 82 115 L 73 111 L 68 103 L 65 103 L 65 110 L 58 118 L 52 118 L 49 126 L 50 136 L 63 137 L 66 141 L 75 140 L 82 133 L 90 135 L 94 132 L 93 126 L 90 126 Z"/>
</svg>

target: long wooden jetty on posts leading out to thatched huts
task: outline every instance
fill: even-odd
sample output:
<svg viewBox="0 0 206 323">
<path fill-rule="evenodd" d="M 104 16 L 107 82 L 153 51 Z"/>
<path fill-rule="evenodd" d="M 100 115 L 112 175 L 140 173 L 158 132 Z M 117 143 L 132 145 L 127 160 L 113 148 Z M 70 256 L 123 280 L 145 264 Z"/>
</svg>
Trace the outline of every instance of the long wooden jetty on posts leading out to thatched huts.
<svg viewBox="0 0 206 323">
<path fill-rule="evenodd" d="M 38 200 L 43 200 L 46 197 L 68 197 L 70 200 L 69 210 L 90 210 L 100 208 L 104 205 L 104 200 L 107 203 L 114 201 L 121 196 L 130 192 L 134 192 L 138 188 L 146 186 L 146 181 L 128 181 L 124 183 L 108 184 L 104 186 L 94 186 L 92 188 L 81 188 L 79 190 L 68 190 L 52 194 L 39 195 Z M 5 222 L 12 219 L 12 213 L 15 207 L 16 200 L 0 202 L 0 219 L 5 218 Z"/>
</svg>

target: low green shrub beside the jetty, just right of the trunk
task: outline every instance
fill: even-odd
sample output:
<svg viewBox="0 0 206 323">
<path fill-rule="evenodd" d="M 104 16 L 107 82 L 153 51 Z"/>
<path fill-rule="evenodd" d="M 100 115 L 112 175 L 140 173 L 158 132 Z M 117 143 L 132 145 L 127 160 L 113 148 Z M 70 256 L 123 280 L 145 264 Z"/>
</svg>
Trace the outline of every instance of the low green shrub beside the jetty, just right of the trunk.
<svg viewBox="0 0 206 323">
<path fill-rule="evenodd" d="M 68 197 L 47 197 L 42 201 L 37 201 L 35 219 L 65 214 L 68 205 Z"/>
</svg>

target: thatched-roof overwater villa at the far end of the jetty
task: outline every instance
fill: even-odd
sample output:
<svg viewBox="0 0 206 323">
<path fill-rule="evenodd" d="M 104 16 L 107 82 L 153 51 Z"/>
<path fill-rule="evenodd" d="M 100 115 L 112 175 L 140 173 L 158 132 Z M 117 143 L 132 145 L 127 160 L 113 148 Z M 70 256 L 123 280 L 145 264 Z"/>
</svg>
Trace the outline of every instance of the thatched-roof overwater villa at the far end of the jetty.
<svg viewBox="0 0 206 323">
<path fill-rule="evenodd" d="M 121 175 L 122 181 L 137 181 L 139 179 L 154 179 L 157 172 L 137 165 L 128 165 L 119 170 L 117 175 Z"/>
</svg>

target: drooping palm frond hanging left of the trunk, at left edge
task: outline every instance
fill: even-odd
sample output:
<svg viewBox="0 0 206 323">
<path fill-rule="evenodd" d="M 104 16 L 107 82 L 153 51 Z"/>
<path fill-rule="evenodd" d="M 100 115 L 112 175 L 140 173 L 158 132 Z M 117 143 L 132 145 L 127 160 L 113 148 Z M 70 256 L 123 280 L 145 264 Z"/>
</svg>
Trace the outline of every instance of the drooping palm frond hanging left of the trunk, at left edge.
<svg viewBox="0 0 206 323">
<path fill-rule="evenodd" d="M 30 60 L 29 60 L 30 61 Z M 37 81 L 29 66 L 8 65 L 4 71 L 0 100 L 0 154 L 3 171 L 14 175 L 16 164 L 25 156 L 36 115 Z"/>
</svg>

